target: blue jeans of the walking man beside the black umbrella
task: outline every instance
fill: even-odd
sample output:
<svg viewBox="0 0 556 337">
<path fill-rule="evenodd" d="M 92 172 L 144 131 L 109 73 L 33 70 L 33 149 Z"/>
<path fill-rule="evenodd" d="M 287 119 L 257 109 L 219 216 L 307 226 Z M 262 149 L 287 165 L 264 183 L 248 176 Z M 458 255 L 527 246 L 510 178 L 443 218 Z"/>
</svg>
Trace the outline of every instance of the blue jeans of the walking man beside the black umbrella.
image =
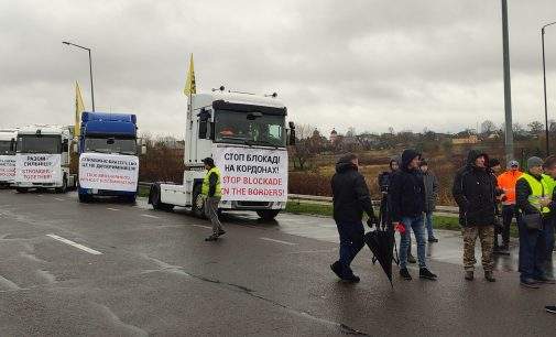
<svg viewBox="0 0 556 337">
<path fill-rule="evenodd" d="M 364 228 L 362 222 L 336 222 L 340 235 L 340 263 L 342 276 L 353 274 L 350 264 L 364 246 Z"/>
</svg>

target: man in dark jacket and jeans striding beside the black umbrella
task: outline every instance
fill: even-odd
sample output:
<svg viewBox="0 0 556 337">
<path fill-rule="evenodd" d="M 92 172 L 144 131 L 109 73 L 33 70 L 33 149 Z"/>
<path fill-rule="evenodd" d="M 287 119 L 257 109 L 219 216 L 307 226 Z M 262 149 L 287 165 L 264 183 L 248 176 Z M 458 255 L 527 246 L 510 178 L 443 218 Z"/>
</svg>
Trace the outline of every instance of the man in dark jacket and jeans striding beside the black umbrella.
<svg viewBox="0 0 556 337">
<path fill-rule="evenodd" d="M 359 276 L 353 274 L 350 264 L 364 246 L 363 213 L 369 216 L 367 224 L 370 227 L 377 224 L 369 188 L 358 167 L 357 155 L 346 154 L 336 164 L 336 174 L 331 180 L 334 220 L 340 236 L 340 259 L 330 269 L 348 282 L 359 282 Z"/>
</svg>

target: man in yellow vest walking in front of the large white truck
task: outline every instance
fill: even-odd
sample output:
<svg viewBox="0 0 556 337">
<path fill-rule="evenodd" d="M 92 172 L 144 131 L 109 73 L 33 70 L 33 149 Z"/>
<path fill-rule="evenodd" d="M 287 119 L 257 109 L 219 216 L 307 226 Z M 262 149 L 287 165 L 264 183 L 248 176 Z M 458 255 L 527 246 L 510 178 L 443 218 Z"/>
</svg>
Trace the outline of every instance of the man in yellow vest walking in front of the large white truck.
<svg viewBox="0 0 556 337">
<path fill-rule="evenodd" d="M 218 237 L 226 233 L 222 229 L 222 224 L 218 219 L 218 204 L 221 198 L 220 186 L 220 170 L 216 167 L 215 161 L 211 157 L 203 160 L 207 174 L 203 178 L 203 186 L 200 193 L 205 197 L 205 215 L 212 222 L 212 235 L 205 239 L 205 241 L 216 241 Z"/>
</svg>

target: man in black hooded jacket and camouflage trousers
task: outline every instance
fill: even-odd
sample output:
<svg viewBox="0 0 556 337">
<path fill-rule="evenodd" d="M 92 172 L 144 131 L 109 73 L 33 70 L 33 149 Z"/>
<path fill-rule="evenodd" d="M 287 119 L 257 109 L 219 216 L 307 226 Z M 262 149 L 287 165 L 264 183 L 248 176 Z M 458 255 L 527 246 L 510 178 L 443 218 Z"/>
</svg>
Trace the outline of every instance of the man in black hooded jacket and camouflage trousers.
<svg viewBox="0 0 556 337">
<path fill-rule="evenodd" d="M 457 172 L 451 188 L 459 206 L 459 224 L 464 229 L 464 268 L 468 281 L 473 280 L 477 237 L 481 241 L 484 279 L 497 281 L 492 274 L 497 184 L 488 164 L 489 156 L 486 153 L 469 151 L 467 164 Z"/>
</svg>

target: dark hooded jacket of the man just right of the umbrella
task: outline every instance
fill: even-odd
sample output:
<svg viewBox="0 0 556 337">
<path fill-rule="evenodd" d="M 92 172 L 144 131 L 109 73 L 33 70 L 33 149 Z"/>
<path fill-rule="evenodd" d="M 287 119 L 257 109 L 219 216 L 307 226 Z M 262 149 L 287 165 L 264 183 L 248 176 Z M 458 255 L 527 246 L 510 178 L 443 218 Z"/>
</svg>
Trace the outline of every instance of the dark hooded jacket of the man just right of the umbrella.
<svg viewBox="0 0 556 337">
<path fill-rule="evenodd" d="M 425 185 L 417 168 L 408 168 L 411 161 L 419 156 L 414 150 L 402 153 L 402 163 L 391 177 L 389 189 L 390 214 L 392 221 L 403 217 L 416 217 L 425 211 Z"/>
</svg>

